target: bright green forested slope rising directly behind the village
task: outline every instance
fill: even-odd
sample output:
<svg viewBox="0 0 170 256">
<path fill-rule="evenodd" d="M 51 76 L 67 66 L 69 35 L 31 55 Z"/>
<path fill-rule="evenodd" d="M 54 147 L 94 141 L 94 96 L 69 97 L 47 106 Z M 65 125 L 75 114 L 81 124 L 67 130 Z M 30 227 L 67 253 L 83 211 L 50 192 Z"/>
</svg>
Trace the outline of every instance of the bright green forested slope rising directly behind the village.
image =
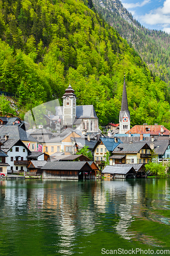
<svg viewBox="0 0 170 256">
<path fill-rule="evenodd" d="M 166 83 L 89 6 L 79 0 L 0 0 L 1 90 L 16 94 L 23 114 L 61 99 L 70 82 L 77 104 L 93 104 L 105 124 L 118 122 L 125 74 L 131 124 L 170 127 Z"/>
</svg>

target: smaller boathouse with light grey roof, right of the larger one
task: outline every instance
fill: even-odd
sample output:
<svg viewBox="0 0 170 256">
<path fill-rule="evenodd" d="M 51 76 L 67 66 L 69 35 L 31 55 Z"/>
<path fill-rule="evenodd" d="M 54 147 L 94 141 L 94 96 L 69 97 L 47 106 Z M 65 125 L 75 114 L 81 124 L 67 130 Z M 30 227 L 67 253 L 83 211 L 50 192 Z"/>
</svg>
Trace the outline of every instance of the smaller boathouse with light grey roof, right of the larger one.
<svg viewBox="0 0 170 256">
<path fill-rule="evenodd" d="M 128 179 L 136 178 L 136 171 L 131 164 L 107 165 L 103 171 L 105 177 Z"/>
</svg>

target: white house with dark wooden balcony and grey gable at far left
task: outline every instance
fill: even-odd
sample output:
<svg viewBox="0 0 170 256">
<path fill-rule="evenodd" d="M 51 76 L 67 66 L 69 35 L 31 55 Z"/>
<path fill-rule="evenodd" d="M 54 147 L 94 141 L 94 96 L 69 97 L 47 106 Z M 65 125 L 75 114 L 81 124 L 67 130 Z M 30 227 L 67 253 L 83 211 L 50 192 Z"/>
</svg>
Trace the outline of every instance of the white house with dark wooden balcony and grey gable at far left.
<svg viewBox="0 0 170 256">
<path fill-rule="evenodd" d="M 29 164 L 27 157 L 31 152 L 21 140 L 4 140 L 2 149 L 8 154 L 7 163 L 9 164 L 9 169 L 7 173 L 27 172 L 27 166 Z"/>
</svg>

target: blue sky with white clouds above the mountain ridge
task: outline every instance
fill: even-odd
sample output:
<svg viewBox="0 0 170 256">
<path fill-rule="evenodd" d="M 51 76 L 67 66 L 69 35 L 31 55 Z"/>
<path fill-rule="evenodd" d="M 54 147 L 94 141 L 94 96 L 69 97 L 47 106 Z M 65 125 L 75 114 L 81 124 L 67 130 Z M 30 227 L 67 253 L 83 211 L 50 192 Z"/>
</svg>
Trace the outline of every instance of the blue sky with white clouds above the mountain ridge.
<svg viewBox="0 0 170 256">
<path fill-rule="evenodd" d="M 122 4 L 145 28 L 170 33 L 170 0 L 122 0 Z"/>
</svg>

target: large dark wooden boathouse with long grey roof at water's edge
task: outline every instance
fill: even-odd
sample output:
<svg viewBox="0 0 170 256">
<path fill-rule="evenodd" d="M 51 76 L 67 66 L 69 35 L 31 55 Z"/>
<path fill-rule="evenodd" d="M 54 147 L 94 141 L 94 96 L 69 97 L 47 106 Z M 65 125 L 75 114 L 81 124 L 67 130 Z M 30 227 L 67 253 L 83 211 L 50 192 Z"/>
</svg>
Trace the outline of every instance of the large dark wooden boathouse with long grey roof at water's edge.
<svg viewBox="0 0 170 256">
<path fill-rule="evenodd" d="M 42 178 L 90 179 L 95 178 L 95 171 L 85 161 L 49 161 L 42 167 Z"/>
</svg>

